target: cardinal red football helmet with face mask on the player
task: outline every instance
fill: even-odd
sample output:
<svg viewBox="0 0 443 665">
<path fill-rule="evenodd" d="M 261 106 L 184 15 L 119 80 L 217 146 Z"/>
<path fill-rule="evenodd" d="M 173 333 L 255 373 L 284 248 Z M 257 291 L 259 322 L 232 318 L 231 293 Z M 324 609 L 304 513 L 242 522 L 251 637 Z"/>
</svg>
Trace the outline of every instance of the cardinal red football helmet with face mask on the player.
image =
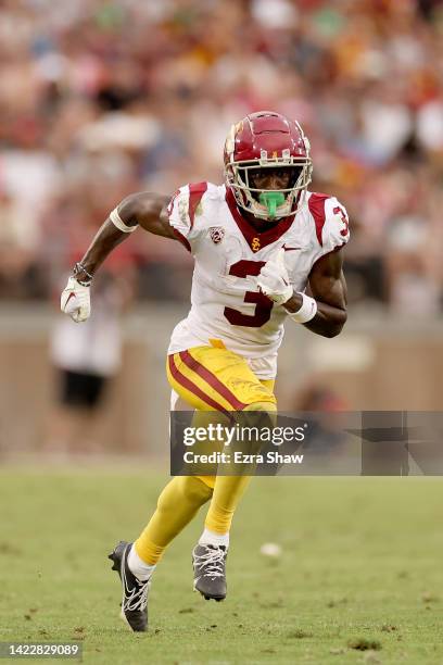
<svg viewBox="0 0 443 665">
<path fill-rule="evenodd" d="M 225 177 L 237 205 L 255 217 L 279 219 L 296 212 L 313 171 L 309 141 L 296 121 L 258 111 L 232 125 L 225 142 Z M 252 172 L 290 168 L 291 187 L 279 189 L 270 206 L 269 190 L 253 187 Z"/>
</svg>

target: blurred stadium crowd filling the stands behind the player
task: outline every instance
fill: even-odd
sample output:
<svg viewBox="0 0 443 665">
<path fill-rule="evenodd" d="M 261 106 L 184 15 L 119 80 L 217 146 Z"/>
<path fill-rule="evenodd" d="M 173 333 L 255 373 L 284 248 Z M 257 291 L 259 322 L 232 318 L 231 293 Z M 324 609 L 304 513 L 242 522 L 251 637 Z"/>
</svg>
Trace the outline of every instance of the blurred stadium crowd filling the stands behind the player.
<svg viewBox="0 0 443 665">
<path fill-rule="evenodd" d="M 0 0 L 0 60 L 1 299 L 55 292 L 130 191 L 221 181 L 229 125 L 273 109 L 347 208 L 355 306 L 441 312 L 440 1 Z M 188 298 L 179 243 L 136 234 L 109 269 Z"/>
</svg>

